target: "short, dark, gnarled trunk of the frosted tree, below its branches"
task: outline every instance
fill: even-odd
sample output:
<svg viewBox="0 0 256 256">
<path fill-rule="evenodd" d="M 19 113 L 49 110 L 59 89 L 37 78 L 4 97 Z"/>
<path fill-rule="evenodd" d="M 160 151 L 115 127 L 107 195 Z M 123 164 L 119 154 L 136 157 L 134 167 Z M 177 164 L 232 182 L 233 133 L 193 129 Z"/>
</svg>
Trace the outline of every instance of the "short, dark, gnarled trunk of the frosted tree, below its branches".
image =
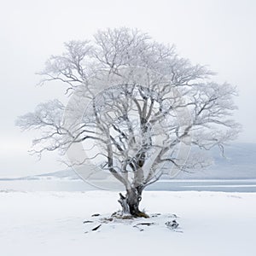
<svg viewBox="0 0 256 256">
<path fill-rule="evenodd" d="M 132 217 L 143 217 L 148 218 L 148 214 L 139 210 L 139 203 L 142 200 L 141 188 L 132 188 L 126 190 L 126 195 L 119 193 L 119 203 L 122 207 L 124 215 L 131 215 Z"/>
</svg>

